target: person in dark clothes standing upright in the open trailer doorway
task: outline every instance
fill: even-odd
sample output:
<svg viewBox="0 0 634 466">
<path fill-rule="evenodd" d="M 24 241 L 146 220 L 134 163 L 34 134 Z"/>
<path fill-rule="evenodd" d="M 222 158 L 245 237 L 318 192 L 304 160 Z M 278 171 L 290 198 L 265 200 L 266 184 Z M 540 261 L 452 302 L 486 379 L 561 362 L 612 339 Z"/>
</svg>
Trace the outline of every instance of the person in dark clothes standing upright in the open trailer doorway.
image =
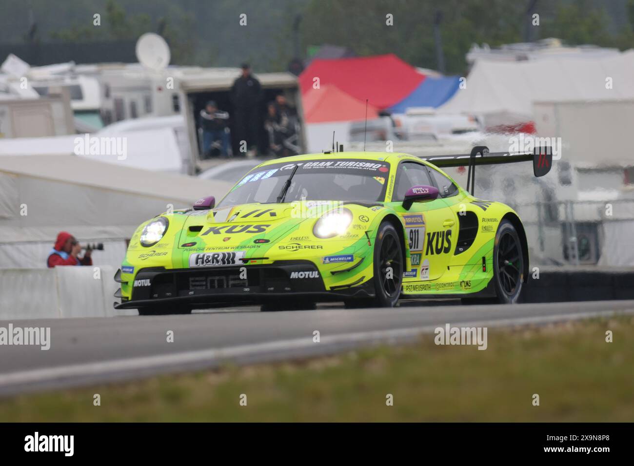
<svg viewBox="0 0 634 466">
<path fill-rule="evenodd" d="M 247 63 L 242 65 L 242 75 L 231 86 L 231 102 L 235 113 L 235 129 L 238 144 L 246 141 L 247 150 L 257 148 L 260 126 L 262 87 L 251 74 Z"/>
</svg>

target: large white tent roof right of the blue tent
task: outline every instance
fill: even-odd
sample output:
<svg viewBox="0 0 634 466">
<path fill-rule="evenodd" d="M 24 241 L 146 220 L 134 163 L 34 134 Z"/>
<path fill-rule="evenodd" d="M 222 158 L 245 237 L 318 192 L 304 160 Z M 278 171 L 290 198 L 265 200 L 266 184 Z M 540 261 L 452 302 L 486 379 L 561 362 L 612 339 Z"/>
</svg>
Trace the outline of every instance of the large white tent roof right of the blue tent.
<svg viewBox="0 0 634 466">
<path fill-rule="evenodd" d="M 634 50 L 602 57 L 510 63 L 479 60 L 467 77 L 465 89 L 458 89 L 438 111 L 473 115 L 507 113 L 532 119 L 534 101 L 634 98 L 633 77 Z"/>
</svg>

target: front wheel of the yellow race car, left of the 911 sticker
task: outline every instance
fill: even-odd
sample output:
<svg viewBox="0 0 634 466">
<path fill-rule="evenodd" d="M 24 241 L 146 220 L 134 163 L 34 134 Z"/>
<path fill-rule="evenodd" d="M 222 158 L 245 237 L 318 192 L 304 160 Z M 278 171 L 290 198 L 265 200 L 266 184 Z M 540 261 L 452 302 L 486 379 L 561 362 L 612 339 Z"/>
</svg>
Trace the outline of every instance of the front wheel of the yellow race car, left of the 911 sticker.
<svg viewBox="0 0 634 466">
<path fill-rule="evenodd" d="M 396 306 L 401 296 L 401 283 L 403 282 L 402 247 L 401 238 L 399 238 L 396 228 L 389 222 L 380 224 L 374 242 L 373 282 L 375 297 L 364 304 L 370 304 L 372 307 Z M 388 268 L 392 268 L 389 275 Z"/>
</svg>

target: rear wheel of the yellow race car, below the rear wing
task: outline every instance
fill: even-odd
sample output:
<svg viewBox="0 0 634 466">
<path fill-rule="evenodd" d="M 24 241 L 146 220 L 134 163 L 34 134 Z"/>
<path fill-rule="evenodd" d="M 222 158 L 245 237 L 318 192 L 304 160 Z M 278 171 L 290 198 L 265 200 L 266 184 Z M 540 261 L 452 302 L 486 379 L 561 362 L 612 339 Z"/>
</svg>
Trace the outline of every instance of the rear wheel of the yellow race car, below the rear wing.
<svg viewBox="0 0 634 466">
<path fill-rule="evenodd" d="M 495 233 L 493 284 L 500 304 L 517 304 L 524 285 L 524 254 L 517 230 L 503 220 Z"/>
</svg>

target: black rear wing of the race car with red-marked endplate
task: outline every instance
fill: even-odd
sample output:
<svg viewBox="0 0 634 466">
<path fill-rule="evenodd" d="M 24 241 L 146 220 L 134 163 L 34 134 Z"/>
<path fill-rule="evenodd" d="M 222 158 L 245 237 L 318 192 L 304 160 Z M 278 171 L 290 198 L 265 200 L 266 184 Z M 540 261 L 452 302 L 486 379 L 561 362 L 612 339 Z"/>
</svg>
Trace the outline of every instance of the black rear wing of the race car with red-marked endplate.
<svg viewBox="0 0 634 466">
<path fill-rule="evenodd" d="M 467 191 L 473 195 L 475 185 L 475 165 L 501 165 L 514 164 L 515 162 L 533 162 L 533 174 L 544 176 L 553 165 L 553 154 L 550 147 L 536 147 L 533 152 L 508 153 L 489 152 L 486 146 L 475 146 L 470 154 L 458 155 L 434 155 L 432 157 L 420 157 L 420 159 L 434 164 L 437 167 L 463 167 L 467 165 Z M 469 190 L 470 188 L 470 190 Z"/>
</svg>

